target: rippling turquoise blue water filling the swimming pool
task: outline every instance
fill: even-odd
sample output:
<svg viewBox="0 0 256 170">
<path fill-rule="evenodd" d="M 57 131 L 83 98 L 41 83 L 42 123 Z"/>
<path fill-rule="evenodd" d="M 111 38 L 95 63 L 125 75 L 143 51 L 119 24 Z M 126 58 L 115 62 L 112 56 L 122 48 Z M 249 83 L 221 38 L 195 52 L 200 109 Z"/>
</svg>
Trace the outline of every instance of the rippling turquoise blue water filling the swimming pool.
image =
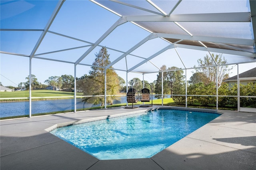
<svg viewBox="0 0 256 170">
<path fill-rule="evenodd" d="M 56 128 L 51 133 L 100 160 L 150 158 L 218 116 L 160 109 Z"/>
</svg>

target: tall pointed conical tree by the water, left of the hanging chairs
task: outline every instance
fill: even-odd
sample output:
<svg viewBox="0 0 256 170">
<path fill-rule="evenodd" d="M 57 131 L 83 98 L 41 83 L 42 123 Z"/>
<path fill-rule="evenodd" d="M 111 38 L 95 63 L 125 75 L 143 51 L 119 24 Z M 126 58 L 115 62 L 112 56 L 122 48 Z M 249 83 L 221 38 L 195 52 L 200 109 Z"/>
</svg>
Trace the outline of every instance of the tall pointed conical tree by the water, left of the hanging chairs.
<svg viewBox="0 0 256 170">
<path fill-rule="evenodd" d="M 92 65 L 96 67 L 91 67 L 89 71 L 89 76 L 86 76 L 84 83 L 90 83 L 92 85 L 84 87 L 84 95 L 104 95 L 105 92 L 105 67 L 110 64 L 109 54 L 106 48 L 102 47 L 99 53 L 95 54 L 96 58 Z M 107 95 L 114 95 L 118 93 L 119 89 L 119 79 L 117 73 L 110 67 L 106 70 L 106 82 L 107 82 Z M 107 97 L 107 103 L 110 105 L 114 101 L 113 96 Z M 84 101 L 93 104 L 100 104 L 104 106 L 104 97 L 86 97 Z"/>
</svg>

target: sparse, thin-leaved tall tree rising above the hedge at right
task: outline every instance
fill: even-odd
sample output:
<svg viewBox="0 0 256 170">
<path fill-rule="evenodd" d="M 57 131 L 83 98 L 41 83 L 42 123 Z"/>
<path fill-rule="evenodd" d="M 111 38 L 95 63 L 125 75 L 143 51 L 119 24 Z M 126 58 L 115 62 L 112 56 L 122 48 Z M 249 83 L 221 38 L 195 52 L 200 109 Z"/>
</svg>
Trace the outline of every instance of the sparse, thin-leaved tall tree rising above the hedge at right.
<svg viewBox="0 0 256 170">
<path fill-rule="evenodd" d="M 214 67 L 215 62 L 218 66 Z M 222 54 L 212 54 L 212 57 L 206 54 L 203 59 L 197 60 L 198 67 L 196 68 L 196 73 L 202 73 L 203 76 L 202 82 L 204 85 L 208 85 L 211 82 L 216 83 L 216 73 L 218 73 L 218 87 L 221 85 L 222 81 L 228 78 L 228 74 L 232 68 L 229 68 L 228 65 L 225 65 L 227 60 L 225 57 L 222 57 Z M 213 66 L 213 67 L 205 67 L 205 66 Z M 196 66 L 194 66 L 196 67 Z"/>
</svg>

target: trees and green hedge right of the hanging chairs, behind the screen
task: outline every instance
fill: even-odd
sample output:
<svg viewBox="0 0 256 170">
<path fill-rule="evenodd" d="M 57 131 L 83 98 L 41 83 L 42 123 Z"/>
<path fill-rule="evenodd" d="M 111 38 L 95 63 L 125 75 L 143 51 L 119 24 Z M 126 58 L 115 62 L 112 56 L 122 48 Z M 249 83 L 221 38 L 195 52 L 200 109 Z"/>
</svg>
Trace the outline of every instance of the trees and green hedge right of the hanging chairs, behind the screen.
<svg viewBox="0 0 256 170">
<path fill-rule="evenodd" d="M 188 80 L 187 84 L 187 101 L 188 105 L 195 105 L 196 103 L 208 107 L 209 105 L 216 105 L 216 97 L 211 96 L 200 96 L 200 95 L 216 95 L 218 89 L 218 96 L 237 96 L 238 89 L 237 84 L 234 84 L 232 87 L 229 87 L 227 83 L 223 82 L 228 79 L 230 70 L 225 57 L 222 55 L 214 55 L 212 57 L 206 55 L 203 59 L 198 59 L 198 66 L 195 67 L 195 72 Z M 214 66 L 220 65 L 218 67 L 205 67 L 205 66 Z M 174 102 L 178 105 L 185 105 L 186 97 L 185 96 L 172 96 L 176 95 L 185 95 L 185 81 L 183 70 L 179 70 L 178 67 L 170 67 L 166 69 L 166 66 L 162 66 L 163 70 L 175 70 L 170 72 L 164 72 L 163 82 L 164 82 L 164 94 L 170 94 Z M 216 77 L 216 75 L 218 75 Z M 162 77 L 159 73 L 155 91 L 160 93 L 159 90 L 162 81 Z M 218 81 L 217 81 L 218 80 Z M 240 84 L 240 96 L 256 96 L 256 83 L 247 83 L 246 85 Z M 218 97 L 218 107 L 236 107 L 237 108 L 237 97 Z M 240 107 L 256 107 L 256 98 L 250 97 L 241 97 L 240 98 Z"/>
</svg>

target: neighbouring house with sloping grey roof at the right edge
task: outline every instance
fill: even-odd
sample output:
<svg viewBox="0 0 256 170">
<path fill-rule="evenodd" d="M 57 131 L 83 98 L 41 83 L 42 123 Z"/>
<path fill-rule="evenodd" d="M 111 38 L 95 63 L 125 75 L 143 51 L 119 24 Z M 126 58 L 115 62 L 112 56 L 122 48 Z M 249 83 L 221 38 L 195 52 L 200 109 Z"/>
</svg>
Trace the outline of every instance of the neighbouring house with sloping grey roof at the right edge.
<svg viewBox="0 0 256 170">
<path fill-rule="evenodd" d="M 237 75 L 226 79 L 224 82 L 228 83 L 229 87 L 237 84 Z M 240 84 L 247 85 L 248 83 L 256 83 L 256 67 L 239 74 Z"/>
</svg>

